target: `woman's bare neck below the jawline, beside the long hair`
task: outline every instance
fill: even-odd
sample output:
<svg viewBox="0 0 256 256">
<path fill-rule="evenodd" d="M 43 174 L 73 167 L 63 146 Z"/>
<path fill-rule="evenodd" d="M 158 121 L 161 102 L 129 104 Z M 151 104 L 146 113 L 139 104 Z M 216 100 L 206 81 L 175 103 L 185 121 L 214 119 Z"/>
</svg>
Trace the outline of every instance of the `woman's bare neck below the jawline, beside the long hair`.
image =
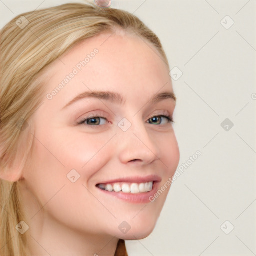
<svg viewBox="0 0 256 256">
<path fill-rule="evenodd" d="M 73 230 L 50 218 L 45 218 L 42 229 L 33 223 L 30 223 L 29 229 L 29 252 L 38 256 L 114 256 L 119 240 L 110 235 Z"/>
</svg>

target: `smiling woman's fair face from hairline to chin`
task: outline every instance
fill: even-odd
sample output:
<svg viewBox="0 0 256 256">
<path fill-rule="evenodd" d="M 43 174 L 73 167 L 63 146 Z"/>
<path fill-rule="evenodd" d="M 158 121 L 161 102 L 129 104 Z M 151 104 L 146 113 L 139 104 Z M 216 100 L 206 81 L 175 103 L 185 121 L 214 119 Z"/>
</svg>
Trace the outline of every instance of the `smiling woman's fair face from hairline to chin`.
<svg viewBox="0 0 256 256">
<path fill-rule="evenodd" d="M 175 100 L 156 48 L 136 35 L 110 35 L 79 43 L 47 68 L 43 104 L 30 120 L 26 204 L 34 225 L 141 239 L 155 226 L 179 161 L 164 117 Z"/>
</svg>

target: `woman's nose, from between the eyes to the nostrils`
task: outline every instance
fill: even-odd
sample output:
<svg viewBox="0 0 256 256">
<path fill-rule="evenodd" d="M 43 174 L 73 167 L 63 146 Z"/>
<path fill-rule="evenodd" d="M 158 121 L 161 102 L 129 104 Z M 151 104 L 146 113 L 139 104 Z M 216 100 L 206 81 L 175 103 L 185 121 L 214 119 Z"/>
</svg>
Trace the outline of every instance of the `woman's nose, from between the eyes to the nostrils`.
<svg viewBox="0 0 256 256">
<path fill-rule="evenodd" d="M 160 157 L 157 139 L 149 136 L 142 121 L 134 120 L 127 131 L 119 129 L 117 139 L 118 157 L 122 163 L 136 162 L 146 165 Z"/>
</svg>

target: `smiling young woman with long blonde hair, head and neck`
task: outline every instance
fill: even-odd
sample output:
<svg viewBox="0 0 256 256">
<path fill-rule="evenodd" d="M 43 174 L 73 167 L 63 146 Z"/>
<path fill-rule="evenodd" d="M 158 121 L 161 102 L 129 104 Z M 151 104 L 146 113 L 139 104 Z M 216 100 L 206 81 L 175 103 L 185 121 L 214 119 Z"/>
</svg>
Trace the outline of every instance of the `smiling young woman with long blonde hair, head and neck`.
<svg viewBox="0 0 256 256">
<path fill-rule="evenodd" d="M 127 255 L 179 161 L 160 40 L 73 3 L 16 17 L 0 49 L 0 255 Z"/>
</svg>

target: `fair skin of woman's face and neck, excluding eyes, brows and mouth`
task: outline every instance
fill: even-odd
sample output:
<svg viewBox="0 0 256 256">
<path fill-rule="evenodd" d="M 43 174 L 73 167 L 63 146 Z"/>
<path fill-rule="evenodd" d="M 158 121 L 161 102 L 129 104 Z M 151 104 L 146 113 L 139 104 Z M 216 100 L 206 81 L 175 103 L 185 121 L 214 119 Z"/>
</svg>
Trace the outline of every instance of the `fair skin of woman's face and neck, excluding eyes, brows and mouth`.
<svg viewBox="0 0 256 256">
<path fill-rule="evenodd" d="M 142 239 L 152 232 L 166 199 L 169 186 L 148 203 L 127 202 L 95 186 L 157 174 L 161 187 L 179 162 L 172 123 L 165 118 L 163 124 L 148 122 L 153 116 L 173 115 L 173 99 L 148 103 L 156 93 L 173 92 L 167 65 L 154 46 L 137 35 L 110 34 L 77 44 L 46 69 L 43 104 L 29 120 L 35 127 L 31 156 L 18 181 L 31 255 L 114 255 L 119 238 Z M 99 50 L 95 57 L 47 99 L 46 94 L 94 48 Z M 118 92 L 124 99 L 119 104 L 84 98 L 62 109 L 79 93 L 91 90 Z M 93 114 L 107 121 L 101 119 L 96 127 L 77 124 Z M 125 132 L 117 126 L 124 117 L 131 123 Z M 66 177 L 72 169 L 80 174 L 74 183 Z M 118 228 L 123 221 L 131 226 L 125 234 Z"/>
</svg>

